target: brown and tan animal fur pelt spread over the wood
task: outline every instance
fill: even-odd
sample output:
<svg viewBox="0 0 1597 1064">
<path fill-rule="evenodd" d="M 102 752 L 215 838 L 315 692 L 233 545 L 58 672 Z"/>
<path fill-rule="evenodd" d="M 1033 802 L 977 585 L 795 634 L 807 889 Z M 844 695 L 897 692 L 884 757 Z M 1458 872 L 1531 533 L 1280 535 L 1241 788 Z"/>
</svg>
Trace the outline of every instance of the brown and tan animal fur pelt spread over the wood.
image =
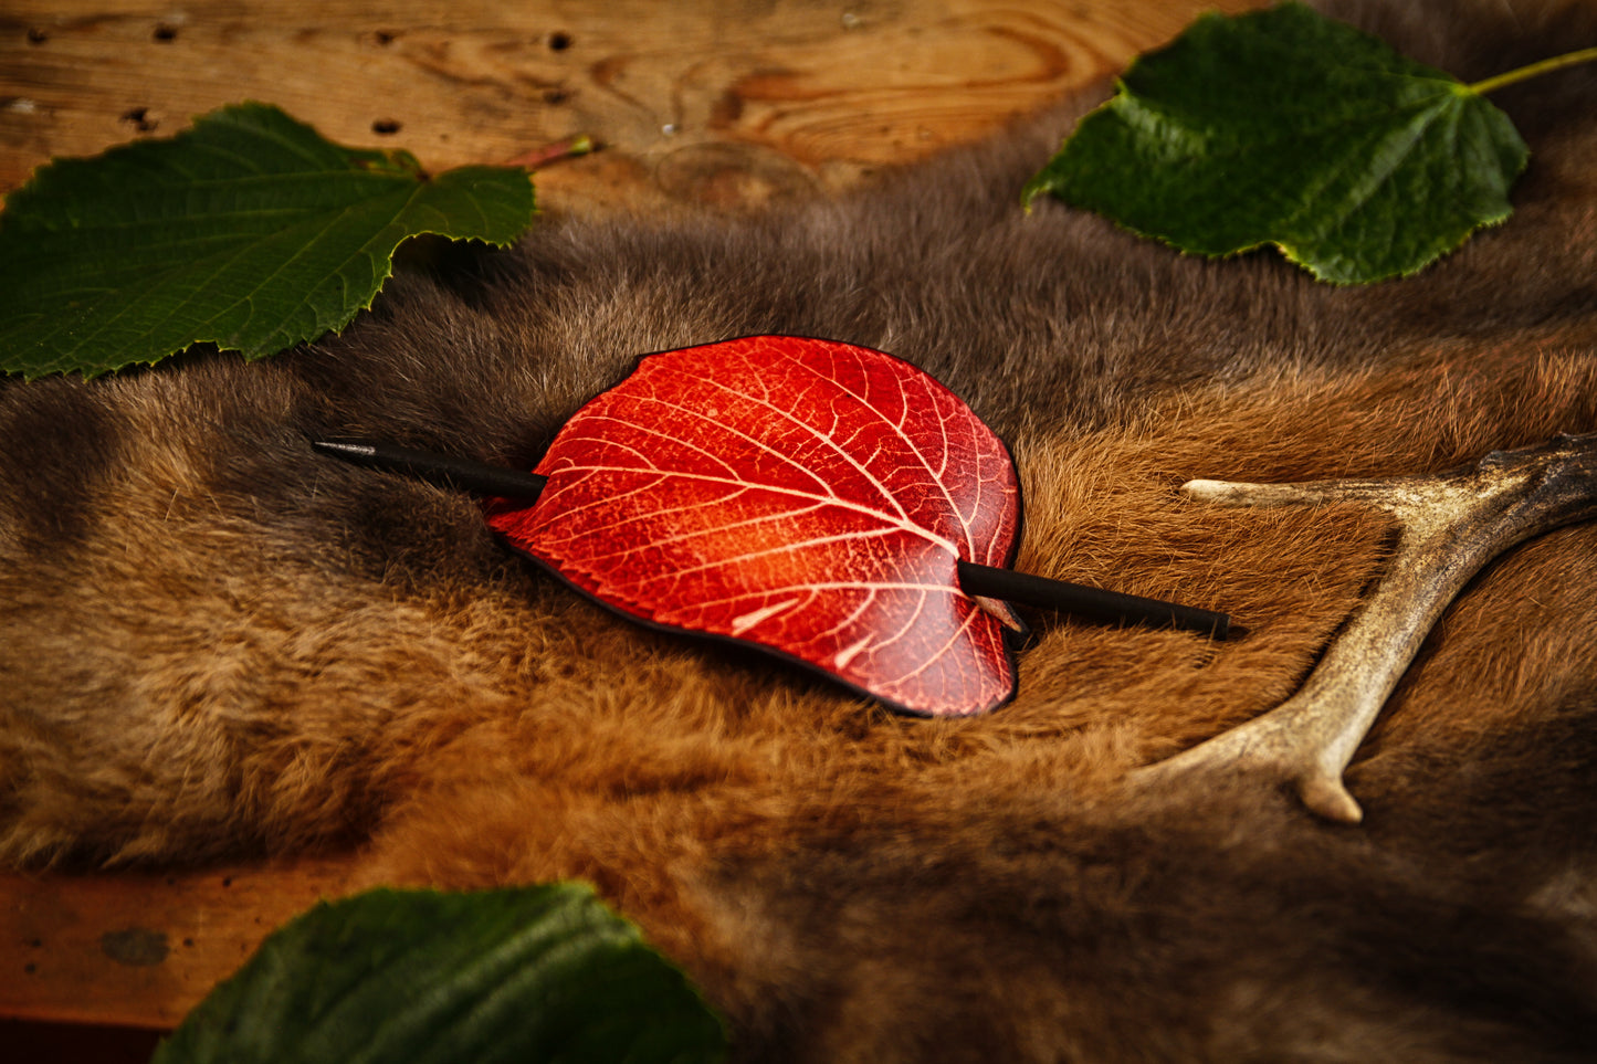
<svg viewBox="0 0 1597 1064">
<path fill-rule="evenodd" d="M 1338 13 L 1464 80 L 1597 43 L 1591 5 Z M 749 1061 L 1591 1059 L 1597 527 L 1448 610 L 1353 764 L 1362 826 L 1247 776 L 1126 783 L 1286 698 L 1389 542 L 1175 484 L 1597 430 L 1597 73 L 1496 99 L 1533 150 L 1517 214 L 1397 283 L 1024 214 L 1086 101 L 842 200 L 546 219 L 265 363 L 5 383 L 5 860 L 359 845 L 390 882 L 588 879 Z M 637 355 L 757 332 L 965 396 L 1020 471 L 1019 569 L 1249 634 L 1033 613 L 1011 705 L 904 719 L 616 620 L 474 500 L 307 446 L 530 466 Z"/>
</svg>

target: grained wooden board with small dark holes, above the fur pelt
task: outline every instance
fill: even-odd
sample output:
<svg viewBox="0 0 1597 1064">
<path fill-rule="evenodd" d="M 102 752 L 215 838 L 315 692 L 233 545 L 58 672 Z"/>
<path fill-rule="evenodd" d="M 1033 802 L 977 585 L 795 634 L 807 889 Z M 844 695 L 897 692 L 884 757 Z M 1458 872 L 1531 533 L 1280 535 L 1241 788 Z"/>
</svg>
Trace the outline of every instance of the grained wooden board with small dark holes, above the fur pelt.
<svg viewBox="0 0 1597 1064">
<path fill-rule="evenodd" d="M 715 181 L 730 173 L 757 176 L 746 198 L 759 203 L 977 137 L 1217 5 L 8 6 L 0 192 L 53 155 L 169 136 L 196 113 L 262 99 L 340 142 L 402 145 L 430 169 L 586 133 L 612 153 L 549 176 L 575 203 L 613 201 L 628 185 L 658 201 L 714 200 L 736 184 Z"/>
</svg>

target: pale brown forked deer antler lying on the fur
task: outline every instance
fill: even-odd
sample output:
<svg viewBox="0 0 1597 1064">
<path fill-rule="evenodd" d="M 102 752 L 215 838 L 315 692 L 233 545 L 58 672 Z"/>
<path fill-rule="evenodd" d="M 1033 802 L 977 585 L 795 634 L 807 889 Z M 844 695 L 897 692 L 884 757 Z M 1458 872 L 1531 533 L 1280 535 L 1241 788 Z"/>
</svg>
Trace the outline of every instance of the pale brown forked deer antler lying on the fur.
<svg viewBox="0 0 1597 1064">
<path fill-rule="evenodd" d="M 1292 783 L 1321 816 L 1359 823 L 1364 813 L 1341 773 L 1447 604 L 1511 546 L 1597 518 L 1597 435 L 1495 451 L 1474 466 L 1437 476 L 1190 481 L 1182 490 L 1222 506 L 1362 502 L 1397 518 L 1397 545 L 1385 574 L 1292 698 L 1135 773 L 1142 783 L 1163 783 L 1198 770 L 1262 772 Z"/>
</svg>

